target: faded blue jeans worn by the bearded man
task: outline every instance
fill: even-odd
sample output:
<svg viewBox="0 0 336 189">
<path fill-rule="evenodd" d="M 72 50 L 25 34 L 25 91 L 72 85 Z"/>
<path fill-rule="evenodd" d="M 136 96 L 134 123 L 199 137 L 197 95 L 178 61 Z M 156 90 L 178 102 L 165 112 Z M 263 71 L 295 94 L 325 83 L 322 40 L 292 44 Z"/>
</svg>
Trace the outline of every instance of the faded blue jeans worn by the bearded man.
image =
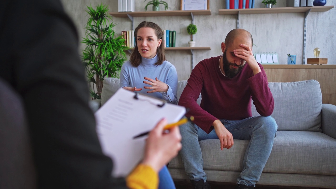
<svg viewBox="0 0 336 189">
<path fill-rule="evenodd" d="M 237 184 L 255 185 L 260 178 L 262 169 L 271 153 L 278 125 L 271 116 L 255 116 L 243 120 L 220 120 L 225 128 L 232 133 L 234 139 L 250 140 L 245 151 L 243 171 Z M 186 174 L 190 180 L 207 180 L 203 170 L 203 158 L 199 141 L 218 139 L 215 129 L 209 134 L 197 125 L 188 122 L 180 126 L 182 149 L 179 152 Z M 220 142 L 218 140 L 218 148 Z M 223 149 L 227 150 L 227 149 Z M 223 159 L 225 161 L 225 159 Z"/>
</svg>

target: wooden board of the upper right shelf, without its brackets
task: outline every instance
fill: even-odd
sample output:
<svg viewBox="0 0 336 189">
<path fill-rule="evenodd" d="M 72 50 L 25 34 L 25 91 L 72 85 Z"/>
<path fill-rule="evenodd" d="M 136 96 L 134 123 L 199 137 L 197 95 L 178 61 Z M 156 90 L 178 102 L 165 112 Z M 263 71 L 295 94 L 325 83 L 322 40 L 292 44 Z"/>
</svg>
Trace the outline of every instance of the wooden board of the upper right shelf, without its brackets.
<svg viewBox="0 0 336 189">
<path fill-rule="evenodd" d="M 274 14 L 293 12 L 325 12 L 334 6 L 310 6 L 310 7 L 277 7 L 277 8 L 240 8 L 240 9 L 219 9 L 219 15 L 225 14 Z"/>
</svg>

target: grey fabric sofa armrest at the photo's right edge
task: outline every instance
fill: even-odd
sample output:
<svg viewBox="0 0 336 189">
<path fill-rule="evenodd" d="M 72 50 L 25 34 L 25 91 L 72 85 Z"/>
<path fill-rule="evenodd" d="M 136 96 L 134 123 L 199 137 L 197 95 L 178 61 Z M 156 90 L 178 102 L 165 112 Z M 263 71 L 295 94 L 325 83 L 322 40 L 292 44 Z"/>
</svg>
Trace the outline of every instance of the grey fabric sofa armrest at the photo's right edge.
<svg viewBox="0 0 336 189">
<path fill-rule="evenodd" d="M 332 104 L 322 104 L 322 132 L 336 139 L 336 106 Z"/>
</svg>

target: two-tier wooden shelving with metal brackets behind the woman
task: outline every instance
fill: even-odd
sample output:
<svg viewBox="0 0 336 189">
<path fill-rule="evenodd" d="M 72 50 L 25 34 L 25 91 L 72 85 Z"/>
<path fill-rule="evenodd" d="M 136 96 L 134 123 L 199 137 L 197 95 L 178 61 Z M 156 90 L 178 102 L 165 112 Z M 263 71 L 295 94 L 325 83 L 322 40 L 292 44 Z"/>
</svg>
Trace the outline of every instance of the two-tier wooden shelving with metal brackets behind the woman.
<svg viewBox="0 0 336 189">
<path fill-rule="evenodd" d="M 194 24 L 194 15 L 211 15 L 211 10 L 165 10 L 165 11 L 142 11 L 142 12 L 109 12 L 114 17 L 128 17 L 132 22 L 132 30 L 134 30 L 133 17 L 146 16 L 191 16 L 192 24 Z M 210 47 L 168 47 L 170 50 L 190 50 L 191 52 L 191 69 L 194 68 L 194 50 L 211 50 Z M 130 53 L 131 50 L 128 50 Z"/>
</svg>

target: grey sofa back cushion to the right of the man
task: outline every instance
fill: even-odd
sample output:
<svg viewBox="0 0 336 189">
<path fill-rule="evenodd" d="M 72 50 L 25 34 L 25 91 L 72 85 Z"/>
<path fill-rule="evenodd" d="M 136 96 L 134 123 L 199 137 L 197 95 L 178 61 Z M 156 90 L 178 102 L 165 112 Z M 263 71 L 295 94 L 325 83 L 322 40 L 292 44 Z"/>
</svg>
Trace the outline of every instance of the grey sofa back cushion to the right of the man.
<svg viewBox="0 0 336 189">
<path fill-rule="evenodd" d="M 316 80 L 268 83 L 274 98 L 272 117 L 278 130 L 321 132 L 322 93 Z M 252 103 L 252 115 L 257 113 Z"/>
</svg>

